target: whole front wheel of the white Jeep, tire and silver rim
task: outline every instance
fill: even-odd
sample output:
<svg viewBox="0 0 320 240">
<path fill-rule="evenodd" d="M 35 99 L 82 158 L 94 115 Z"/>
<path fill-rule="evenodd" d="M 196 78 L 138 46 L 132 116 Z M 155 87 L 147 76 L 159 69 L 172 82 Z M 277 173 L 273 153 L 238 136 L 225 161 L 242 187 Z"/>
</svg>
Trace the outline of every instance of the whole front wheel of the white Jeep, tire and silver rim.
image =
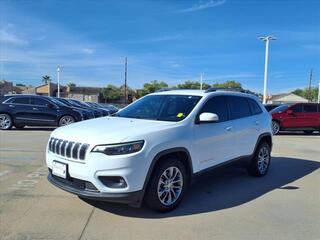
<svg viewBox="0 0 320 240">
<path fill-rule="evenodd" d="M 172 211 L 183 199 L 188 184 L 189 174 L 183 163 L 175 158 L 163 159 L 152 173 L 144 202 L 159 212 Z"/>
</svg>

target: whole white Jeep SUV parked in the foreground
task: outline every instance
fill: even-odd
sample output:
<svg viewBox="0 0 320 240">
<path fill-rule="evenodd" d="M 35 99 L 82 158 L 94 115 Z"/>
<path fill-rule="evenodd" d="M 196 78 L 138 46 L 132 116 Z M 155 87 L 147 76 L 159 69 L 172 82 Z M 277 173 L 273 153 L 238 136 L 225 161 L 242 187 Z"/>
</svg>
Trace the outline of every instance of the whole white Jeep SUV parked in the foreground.
<svg viewBox="0 0 320 240">
<path fill-rule="evenodd" d="M 265 175 L 271 132 L 270 114 L 250 94 L 157 92 L 113 117 L 53 131 L 48 180 L 82 198 L 169 211 L 204 170 L 245 159 L 250 174 Z"/>
</svg>

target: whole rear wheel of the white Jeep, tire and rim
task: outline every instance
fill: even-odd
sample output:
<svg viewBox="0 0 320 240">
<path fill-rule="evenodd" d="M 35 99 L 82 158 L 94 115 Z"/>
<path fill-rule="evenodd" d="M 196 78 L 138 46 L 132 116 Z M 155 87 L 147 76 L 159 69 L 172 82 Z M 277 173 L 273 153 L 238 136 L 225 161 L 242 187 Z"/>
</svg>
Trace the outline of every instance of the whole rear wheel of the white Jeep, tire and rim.
<svg viewBox="0 0 320 240">
<path fill-rule="evenodd" d="M 267 142 L 262 142 L 256 149 L 247 168 L 250 175 L 262 177 L 268 173 L 271 162 L 271 148 Z"/>
</svg>

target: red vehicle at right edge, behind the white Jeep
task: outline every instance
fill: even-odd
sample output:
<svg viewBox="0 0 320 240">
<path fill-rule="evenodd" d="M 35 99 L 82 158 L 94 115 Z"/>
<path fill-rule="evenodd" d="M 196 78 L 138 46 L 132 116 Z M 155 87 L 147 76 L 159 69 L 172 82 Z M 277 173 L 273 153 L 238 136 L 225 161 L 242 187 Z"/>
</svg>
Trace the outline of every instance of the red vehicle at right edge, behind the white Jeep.
<svg viewBox="0 0 320 240">
<path fill-rule="evenodd" d="M 296 103 L 281 105 L 272 111 L 272 132 L 281 130 L 302 130 L 306 134 L 320 131 L 320 104 Z"/>
</svg>

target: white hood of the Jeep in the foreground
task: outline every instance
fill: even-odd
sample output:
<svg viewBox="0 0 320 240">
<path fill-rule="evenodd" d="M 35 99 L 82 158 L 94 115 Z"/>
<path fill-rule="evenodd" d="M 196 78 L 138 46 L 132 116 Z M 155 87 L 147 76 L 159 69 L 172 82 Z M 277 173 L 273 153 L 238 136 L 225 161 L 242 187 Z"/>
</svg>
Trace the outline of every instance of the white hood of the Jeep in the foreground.
<svg viewBox="0 0 320 240">
<path fill-rule="evenodd" d="M 176 122 L 102 117 L 70 124 L 54 130 L 51 137 L 92 144 L 112 144 L 144 140 L 147 133 L 174 127 Z"/>
</svg>

